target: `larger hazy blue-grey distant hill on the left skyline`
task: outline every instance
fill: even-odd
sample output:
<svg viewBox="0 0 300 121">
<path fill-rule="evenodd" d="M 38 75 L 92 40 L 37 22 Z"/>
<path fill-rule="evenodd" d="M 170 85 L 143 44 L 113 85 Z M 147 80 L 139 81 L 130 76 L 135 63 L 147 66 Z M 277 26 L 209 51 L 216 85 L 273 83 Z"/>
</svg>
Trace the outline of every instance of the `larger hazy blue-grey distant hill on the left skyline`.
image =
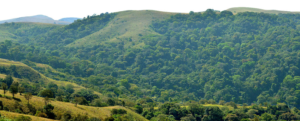
<svg viewBox="0 0 300 121">
<path fill-rule="evenodd" d="M 20 17 L 15 19 L 8 19 L 0 21 L 0 24 L 5 22 L 40 22 L 40 23 L 49 23 L 49 24 L 70 24 L 72 22 L 67 21 L 60 21 L 60 20 L 54 20 L 48 16 L 44 15 L 36 15 L 36 16 L 26 16 L 26 17 Z"/>
</svg>

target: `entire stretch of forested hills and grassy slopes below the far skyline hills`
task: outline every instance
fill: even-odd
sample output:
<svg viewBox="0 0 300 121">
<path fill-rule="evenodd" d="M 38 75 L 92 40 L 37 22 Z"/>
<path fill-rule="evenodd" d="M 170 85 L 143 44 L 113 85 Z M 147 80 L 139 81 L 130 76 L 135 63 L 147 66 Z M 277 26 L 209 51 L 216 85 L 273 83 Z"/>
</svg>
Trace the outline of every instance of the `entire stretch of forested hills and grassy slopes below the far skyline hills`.
<svg viewBox="0 0 300 121">
<path fill-rule="evenodd" d="M 300 120 L 300 14 L 0 24 L 0 121 Z"/>
</svg>

